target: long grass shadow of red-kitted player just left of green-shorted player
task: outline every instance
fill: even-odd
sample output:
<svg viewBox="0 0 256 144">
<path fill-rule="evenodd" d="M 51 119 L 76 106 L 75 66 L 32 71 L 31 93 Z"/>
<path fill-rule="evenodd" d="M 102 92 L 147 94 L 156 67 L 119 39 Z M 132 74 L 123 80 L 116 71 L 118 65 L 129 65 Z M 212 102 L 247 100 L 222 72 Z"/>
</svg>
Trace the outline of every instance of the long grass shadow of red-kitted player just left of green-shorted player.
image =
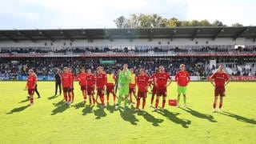
<svg viewBox="0 0 256 144">
<path fill-rule="evenodd" d="M 171 113 L 170 111 L 168 110 L 157 110 L 158 114 L 162 114 L 162 116 L 166 117 L 167 119 L 169 119 L 171 122 L 174 122 L 174 123 L 177 123 L 177 124 L 180 124 L 182 125 L 182 127 L 184 128 L 188 128 L 191 124 L 191 121 L 188 120 L 188 119 L 182 119 L 182 118 L 178 118 L 177 115 L 179 113 Z"/>
</svg>

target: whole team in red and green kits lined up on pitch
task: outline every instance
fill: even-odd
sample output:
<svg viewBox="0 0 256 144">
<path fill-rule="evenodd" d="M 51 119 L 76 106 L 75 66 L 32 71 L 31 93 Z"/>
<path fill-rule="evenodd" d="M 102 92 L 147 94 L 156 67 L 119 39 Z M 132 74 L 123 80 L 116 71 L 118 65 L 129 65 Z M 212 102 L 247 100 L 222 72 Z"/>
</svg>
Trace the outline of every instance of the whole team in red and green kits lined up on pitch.
<svg viewBox="0 0 256 144">
<path fill-rule="evenodd" d="M 230 77 L 224 72 L 223 66 L 218 67 L 218 72 L 214 73 L 210 77 L 210 82 L 214 86 L 214 103 L 213 112 L 216 112 L 216 105 L 218 96 L 220 96 L 219 110 L 222 109 L 223 97 L 225 96 L 225 86 L 230 82 Z M 94 105 L 100 99 L 101 108 L 105 107 L 104 95 L 106 92 L 106 102 L 109 103 L 110 94 L 114 97 L 114 106 L 116 110 L 120 109 L 121 103 L 124 102 L 124 109 L 126 110 L 128 104 L 133 105 L 132 96 L 136 98 L 136 108 L 135 111 L 140 110 L 140 101 L 142 99 L 142 109 L 144 110 L 146 105 L 147 90 L 150 87 L 152 95 L 150 106 L 154 108 L 153 111 L 158 109 L 158 103 L 160 97 L 162 97 L 162 107 L 161 110 L 165 109 L 166 106 L 166 96 L 167 87 L 170 86 L 172 78 L 170 74 L 165 71 L 164 66 L 159 66 L 155 70 L 155 73 L 149 76 L 143 69 L 139 70 L 139 74 L 134 74 L 133 69 L 128 69 L 128 65 L 124 64 L 122 70 L 118 70 L 117 76 L 112 74 L 111 70 L 107 70 L 107 74 L 103 70 L 102 66 L 98 66 L 97 74 L 92 74 L 91 70 L 81 69 L 81 73 L 75 78 L 74 73 L 68 67 L 64 67 L 63 74 L 60 70 L 57 70 L 55 74 L 55 95 L 58 91 L 61 94 L 61 86 L 64 95 L 65 103 L 70 105 L 74 102 L 74 80 L 77 79 L 82 91 L 82 96 L 86 102 L 87 97 L 89 97 L 90 105 Z M 37 86 L 37 76 L 34 74 L 33 70 L 28 71 L 28 78 L 26 83 L 26 90 L 30 95 L 30 105 L 34 104 L 34 91 Z M 186 71 L 185 65 L 180 65 L 180 71 L 175 75 L 175 81 L 178 84 L 177 93 L 177 103 L 175 106 L 179 107 L 180 95 L 183 95 L 184 107 L 186 105 L 186 89 L 190 82 L 190 74 Z M 136 94 L 136 88 L 137 94 Z M 96 89 L 97 94 L 94 98 L 94 90 Z M 118 103 L 116 103 L 116 94 L 118 90 Z M 155 105 L 153 106 L 154 96 L 157 96 L 155 100 Z"/>
</svg>

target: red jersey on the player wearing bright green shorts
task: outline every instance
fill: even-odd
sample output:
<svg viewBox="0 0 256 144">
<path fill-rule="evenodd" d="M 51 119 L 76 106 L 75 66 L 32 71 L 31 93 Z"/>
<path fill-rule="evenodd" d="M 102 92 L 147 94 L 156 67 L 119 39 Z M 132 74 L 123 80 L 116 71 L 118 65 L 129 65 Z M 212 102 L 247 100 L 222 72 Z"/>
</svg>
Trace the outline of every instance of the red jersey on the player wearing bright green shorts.
<svg viewBox="0 0 256 144">
<path fill-rule="evenodd" d="M 188 82 L 190 82 L 190 74 L 187 71 L 178 71 L 175 75 L 175 81 L 178 86 L 187 86 Z"/>
</svg>

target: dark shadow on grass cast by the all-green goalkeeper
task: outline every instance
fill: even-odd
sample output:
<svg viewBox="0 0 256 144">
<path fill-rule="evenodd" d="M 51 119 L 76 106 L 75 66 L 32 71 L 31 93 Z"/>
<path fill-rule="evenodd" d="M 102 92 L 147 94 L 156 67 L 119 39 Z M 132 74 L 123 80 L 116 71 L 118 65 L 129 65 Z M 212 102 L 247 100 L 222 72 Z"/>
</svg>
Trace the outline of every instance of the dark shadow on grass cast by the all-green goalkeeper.
<svg viewBox="0 0 256 144">
<path fill-rule="evenodd" d="M 119 109 L 119 112 L 123 120 L 130 122 L 132 125 L 137 125 L 138 119 L 134 116 L 134 110 L 126 108 L 126 110 Z"/>
</svg>

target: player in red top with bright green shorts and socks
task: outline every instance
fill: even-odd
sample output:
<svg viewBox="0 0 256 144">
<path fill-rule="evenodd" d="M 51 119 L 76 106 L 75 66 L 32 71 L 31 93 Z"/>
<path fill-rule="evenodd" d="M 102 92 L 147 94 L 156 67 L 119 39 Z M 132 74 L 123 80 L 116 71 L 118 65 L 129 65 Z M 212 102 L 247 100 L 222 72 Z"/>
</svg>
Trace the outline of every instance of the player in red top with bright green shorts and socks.
<svg viewBox="0 0 256 144">
<path fill-rule="evenodd" d="M 183 102 L 184 102 L 184 107 L 186 107 L 186 87 L 188 83 L 190 82 L 190 74 L 185 70 L 185 65 L 181 64 L 179 66 L 180 71 L 175 75 L 175 81 L 178 84 L 177 87 L 177 92 L 178 92 L 178 105 L 179 107 L 179 100 L 180 100 L 180 95 L 183 94 Z"/>
</svg>

